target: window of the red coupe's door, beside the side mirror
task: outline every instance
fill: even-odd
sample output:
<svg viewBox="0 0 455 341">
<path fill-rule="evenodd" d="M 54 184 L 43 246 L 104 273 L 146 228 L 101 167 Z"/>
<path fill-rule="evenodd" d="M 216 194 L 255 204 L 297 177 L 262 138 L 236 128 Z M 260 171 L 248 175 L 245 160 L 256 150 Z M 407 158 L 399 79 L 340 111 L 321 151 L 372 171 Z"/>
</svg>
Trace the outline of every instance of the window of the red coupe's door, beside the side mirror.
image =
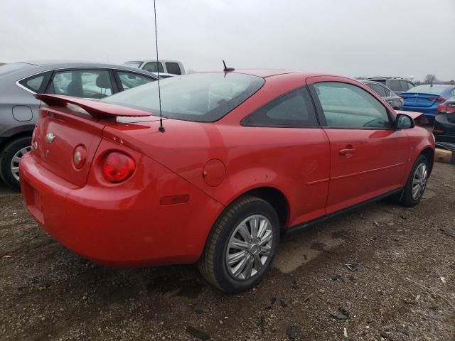
<svg viewBox="0 0 455 341">
<path fill-rule="evenodd" d="M 326 126 L 353 129 L 387 129 L 387 109 L 371 94 L 342 82 L 314 85 L 321 102 Z"/>
</svg>

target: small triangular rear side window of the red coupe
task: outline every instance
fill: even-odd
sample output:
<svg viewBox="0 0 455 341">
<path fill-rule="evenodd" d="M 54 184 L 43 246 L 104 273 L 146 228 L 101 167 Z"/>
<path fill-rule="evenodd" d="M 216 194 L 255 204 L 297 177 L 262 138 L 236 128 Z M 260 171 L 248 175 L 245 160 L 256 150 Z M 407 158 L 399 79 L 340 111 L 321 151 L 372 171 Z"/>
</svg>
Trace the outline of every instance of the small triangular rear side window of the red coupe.
<svg viewBox="0 0 455 341">
<path fill-rule="evenodd" d="M 306 87 L 274 99 L 242 121 L 246 126 L 316 126 L 318 121 Z"/>
</svg>

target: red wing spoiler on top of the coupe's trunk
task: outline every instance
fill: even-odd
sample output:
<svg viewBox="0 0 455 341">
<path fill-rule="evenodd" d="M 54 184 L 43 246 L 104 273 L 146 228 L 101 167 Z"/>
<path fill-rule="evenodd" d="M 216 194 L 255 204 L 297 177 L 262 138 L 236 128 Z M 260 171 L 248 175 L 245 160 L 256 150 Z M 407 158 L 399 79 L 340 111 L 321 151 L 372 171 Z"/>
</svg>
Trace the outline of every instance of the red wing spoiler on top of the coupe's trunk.
<svg viewBox="0 0 455 341">
<path fill-rule="evenodd" d="M 45 104 L 48 104 L 49 107 L 68 107 L 68 104 L 73 104 L 84 109 L 85 112 L 95 119 L 107 119 L 109 117 L 146 117 L 151 115 L 150 112 L 93 99 L 63 96 L 60 94 L 35 94 L 34 96 Z"/>
</svg>

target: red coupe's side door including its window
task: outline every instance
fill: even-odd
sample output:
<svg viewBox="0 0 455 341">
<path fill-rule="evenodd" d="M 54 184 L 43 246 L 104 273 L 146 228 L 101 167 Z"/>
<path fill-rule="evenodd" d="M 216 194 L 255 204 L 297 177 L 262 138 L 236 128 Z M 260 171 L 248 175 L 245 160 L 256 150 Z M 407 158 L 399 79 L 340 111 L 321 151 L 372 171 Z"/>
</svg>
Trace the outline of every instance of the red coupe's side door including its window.
<svg viewBox="0 0 455 341">
<path fill-rule="evenodd" d="M 408 136 L 392 128 L 377 94 L 341 77 L 309 77 L 319 119 L 330 141 L 327 214 L 402 187 Z"/>
</svg>

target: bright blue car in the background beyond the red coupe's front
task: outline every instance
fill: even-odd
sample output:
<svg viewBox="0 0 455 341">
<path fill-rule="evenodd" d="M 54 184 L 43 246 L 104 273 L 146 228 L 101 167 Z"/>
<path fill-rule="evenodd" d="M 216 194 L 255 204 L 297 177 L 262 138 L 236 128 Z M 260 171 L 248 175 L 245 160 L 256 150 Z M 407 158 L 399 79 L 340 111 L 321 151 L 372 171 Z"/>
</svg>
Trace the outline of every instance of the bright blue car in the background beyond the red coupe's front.
<svg viewBox="0 0 455 341">
<path fill-rule="evenodd" d="M 407 112 L 423 112 L 433 120 L 438 113 L 438 105 L 455 96 L 455 85 L 417 85 L 400 97 L 405 100 L 403 110 Z"/>
</svg>

